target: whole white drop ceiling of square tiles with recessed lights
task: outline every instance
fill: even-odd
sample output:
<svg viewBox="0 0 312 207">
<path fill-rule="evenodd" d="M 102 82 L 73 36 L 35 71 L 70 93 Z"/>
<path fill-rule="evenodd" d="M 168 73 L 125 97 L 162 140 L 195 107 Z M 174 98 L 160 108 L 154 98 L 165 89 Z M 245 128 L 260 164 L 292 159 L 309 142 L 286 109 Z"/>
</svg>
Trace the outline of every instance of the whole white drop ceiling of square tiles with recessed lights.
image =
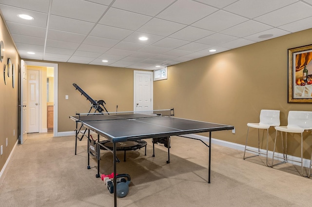
<svg viewBox="0 0 312 207">
<path fill-rule="evenodd" d="M 0 0 L 0 11 L 23 59 L 146 70 L 312 28 L 312 0 Z"/>
</svg>

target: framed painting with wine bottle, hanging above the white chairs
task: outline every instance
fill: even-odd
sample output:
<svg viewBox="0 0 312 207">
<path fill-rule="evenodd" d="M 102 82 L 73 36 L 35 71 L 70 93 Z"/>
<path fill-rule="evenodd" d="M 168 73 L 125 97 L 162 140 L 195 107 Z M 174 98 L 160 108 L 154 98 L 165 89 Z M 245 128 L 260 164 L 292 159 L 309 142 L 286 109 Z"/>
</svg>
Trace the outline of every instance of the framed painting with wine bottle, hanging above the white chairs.
<svg viewBox="0 0 312 207">
<path fill-rule="evenodd" d="M 288 49 L 288 103 L 312 103 L 312 45 Z"/>
</svg>

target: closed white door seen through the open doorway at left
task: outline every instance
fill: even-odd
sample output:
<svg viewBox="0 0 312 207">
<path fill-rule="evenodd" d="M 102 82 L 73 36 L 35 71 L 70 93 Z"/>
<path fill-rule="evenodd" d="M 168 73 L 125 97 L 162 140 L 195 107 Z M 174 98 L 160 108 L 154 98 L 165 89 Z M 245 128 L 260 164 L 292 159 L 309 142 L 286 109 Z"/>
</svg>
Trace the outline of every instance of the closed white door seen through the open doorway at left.
<svg viewBox="0 0 312 207">
<path fill-rule="evenodd" d="M 39 132 L 39 71 L 27 70 L 27 132 Z"/>
</svg>

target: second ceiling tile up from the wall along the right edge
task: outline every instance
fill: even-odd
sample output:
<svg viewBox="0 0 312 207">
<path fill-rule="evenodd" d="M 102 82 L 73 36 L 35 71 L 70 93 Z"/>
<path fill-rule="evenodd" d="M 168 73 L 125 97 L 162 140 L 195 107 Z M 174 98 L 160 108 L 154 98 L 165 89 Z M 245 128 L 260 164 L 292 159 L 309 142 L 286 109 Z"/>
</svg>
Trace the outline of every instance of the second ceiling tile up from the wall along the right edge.
<svg viewBox="0 0 312 207">
<path fill-rule="evenodd" d="M 300 11 L 300 12 L 294 12 Z M 268 14 L 255 18 L 255 20 L 274 27 L 288 24 L 293 21 L 311 17 L 312 6 L 303 2 L 297 2 Z"/>
</svg>

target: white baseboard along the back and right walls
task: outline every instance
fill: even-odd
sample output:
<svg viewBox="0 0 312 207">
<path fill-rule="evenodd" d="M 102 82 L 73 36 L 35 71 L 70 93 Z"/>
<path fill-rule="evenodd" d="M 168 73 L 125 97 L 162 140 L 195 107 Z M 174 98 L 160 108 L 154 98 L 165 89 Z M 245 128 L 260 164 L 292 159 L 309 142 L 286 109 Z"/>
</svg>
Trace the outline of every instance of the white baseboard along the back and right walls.
<svg viewBox="0 0 312 207">
<path fill-rule="evenodd" d="M 95 132 L 90 132 L 91 134 L 96 134 Z M 76 135 L 75 132 L 58 132 L 58 135 L 59 136 L 72 136 L 72 135 Z M 192 138 L 192 139 L 199 139 L 203 142 L 207 142 L 209 143 L 209 137 L 206 137 L 206 136 L 202 136 L 202 135 L 198 135 L 198 134 L 184 134 L 184 135 L 181 135 L 182 137 L 186 137 L 186 138 Z M 223 141 L 223 140 L 219 140 L 219 139 L 215 139 L 215 138 L 212 138 L 211 139 L 211 143 L 212 144 L 216 144 L 216 145 L 220 145 L 220 146 L 224 146 L 224 147 L 228 147 L 228 148 L 231 148 L 231 149 L 235 149 L 235 150 L 239 150 L 239 151 L 244 151 L 245 150 L 245 145 L 240 145 L 240 144 L 236 144 L 236 143 L 233 143 L 233 142 L 227 142 L 227 141 Z M 258 149 L 257 148 L 252 148 L 252 147 L 248 147 L 248 149 L 252 150 L 252 151 L 257 151 Z M 265 150 L 262 150 L 260 149 L 260 151 L 262 153 L 265 152 Z M 274 159 L 277 159 L 277 160 L 280 160 L 282 161 L 283 160 L 283 154 L 282 153 L 274 153 L 275 155 L 275 158 Z M 261 154 L 261 156 L 264 156 L 263 154 Z M 272 156 L 273 156 L 273 151 L 268 151 L 268 157 L 272 159 Z M 301 162 L 301 157 L 295 157 L 295 156 L 291 156 L 291 155 L 287 155 L 288 159 L 290 159 L 288 161 L 288 163 L 291 163 L 293 165 L 300 165 L 300 163 L 298 162 Z M 243 157 L 242 157 L 243 159 Z M 293 162 L 291 160 L 295 160 L 297 162 Z M 310 160 L 309 159 L 303 159 L 303 166 L 306 167 L 306 168 L 310 168 Z"/>
</svg>

